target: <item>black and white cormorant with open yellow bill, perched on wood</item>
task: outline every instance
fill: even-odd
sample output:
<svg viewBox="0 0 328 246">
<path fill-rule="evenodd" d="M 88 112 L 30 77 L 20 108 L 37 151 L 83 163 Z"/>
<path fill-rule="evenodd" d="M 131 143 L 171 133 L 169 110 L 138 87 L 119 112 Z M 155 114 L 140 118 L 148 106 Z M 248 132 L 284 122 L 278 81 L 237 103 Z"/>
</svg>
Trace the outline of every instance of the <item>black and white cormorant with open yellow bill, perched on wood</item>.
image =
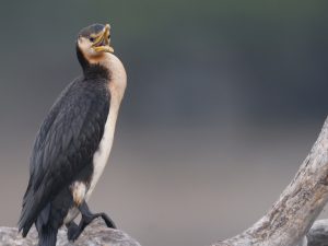
<svg viewBox="0 0 328 246">
<path fill-rule="evenodd" d="M 35 224 L 38 246 L 55 246 L 63 225 L 73 242 L 96 218 L 116 229 L 106 213 L 92 213 L 87 201 L 109 157 L 127 73 L 110 46 L 109 24 L 82 28 L 75 50 L 83 73 L 51 106 L 30 160 L 19 231 L 25 237 Z"/>
</svg>

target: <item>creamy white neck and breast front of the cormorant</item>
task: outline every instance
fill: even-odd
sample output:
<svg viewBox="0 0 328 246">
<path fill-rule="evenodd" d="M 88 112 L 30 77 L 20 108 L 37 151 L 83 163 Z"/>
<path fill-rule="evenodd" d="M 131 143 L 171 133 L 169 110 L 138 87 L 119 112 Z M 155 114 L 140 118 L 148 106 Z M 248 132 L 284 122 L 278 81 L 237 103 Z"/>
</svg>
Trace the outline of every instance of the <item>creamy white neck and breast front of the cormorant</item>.
<svg viewBox="0 0 328 246">
<path fill-rule="evenodd" d="M 113 145 L 117 115 L 127 84 L 127 74 L 125 68 L 116 56 L 114 56 L 113 54 L 106 54 L 106 59 L 104 59 L 104 61 L 99 63 L 112 71 L 110 81 L 108 81 L 108 89 L 110 91 L 110 107 L 105 124 L 103 138 L 97 151 L 93 155 L 94 169 L 90 188 L 87 189 L 84 197 L 85 201 L 90 199 L 91 194 L 94 190 L 107 164 Z M 74 220 L 78 214 L 79 210 L 77 208 L 70 209 L 63 223 L 67 224 L 70 221 Z"/>
</svg>

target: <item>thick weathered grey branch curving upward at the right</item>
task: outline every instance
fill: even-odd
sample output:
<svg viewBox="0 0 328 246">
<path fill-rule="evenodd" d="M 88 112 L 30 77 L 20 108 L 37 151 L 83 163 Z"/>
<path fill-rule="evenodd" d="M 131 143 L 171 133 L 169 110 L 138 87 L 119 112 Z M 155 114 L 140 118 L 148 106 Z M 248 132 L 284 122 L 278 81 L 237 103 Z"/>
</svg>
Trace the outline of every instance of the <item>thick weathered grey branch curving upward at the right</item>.
<svg viewBox="0 0 328 246">
<path fill-rule="evenodd" d="M 327 200 L 328 118 L 294 179 L 269 212 L 242 234 L 213 246 L 304 245 L 304 235 Z"/>
</svg>

